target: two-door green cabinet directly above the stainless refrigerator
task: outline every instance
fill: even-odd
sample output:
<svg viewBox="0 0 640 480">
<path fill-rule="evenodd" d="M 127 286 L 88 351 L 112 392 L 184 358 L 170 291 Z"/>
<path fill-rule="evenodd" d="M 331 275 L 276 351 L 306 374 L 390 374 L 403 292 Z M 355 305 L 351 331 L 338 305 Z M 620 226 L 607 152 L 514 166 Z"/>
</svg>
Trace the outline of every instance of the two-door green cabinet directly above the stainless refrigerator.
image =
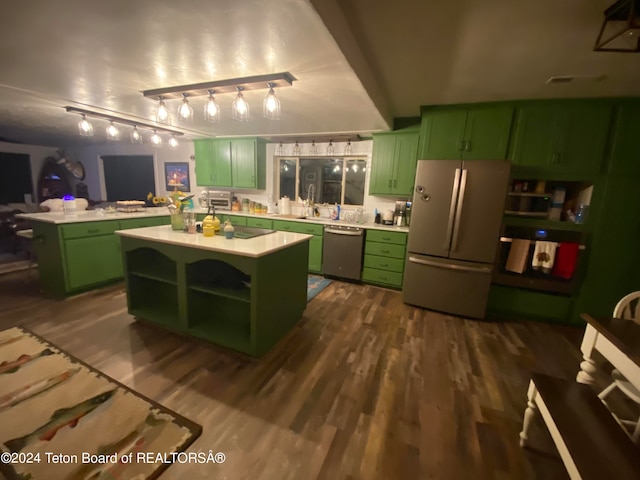
<svg viewBox="0 0 640 480">
<path fill-rule="evenodd" d="M 434 107 L 422 114 L 420 158 L 507 158 L 513 108 L 507 105 Z"/>
</svg>

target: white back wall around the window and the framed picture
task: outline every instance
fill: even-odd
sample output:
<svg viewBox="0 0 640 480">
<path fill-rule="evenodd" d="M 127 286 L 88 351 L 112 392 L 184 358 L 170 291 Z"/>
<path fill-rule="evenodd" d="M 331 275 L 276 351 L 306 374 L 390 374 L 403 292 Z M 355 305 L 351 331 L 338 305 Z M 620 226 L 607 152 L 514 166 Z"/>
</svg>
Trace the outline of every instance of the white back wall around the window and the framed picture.
<svg viewBox="0 0 640 480">
<path fill-rule="evenodd" d="M 326 143 L 318 143 L 318 154 L 323 155 L 327 150 Z M 277 144 L 271 143 L 267 145 L 267 179 L 265 190 L 241 190 L 234 189 L 233 192 L 239 198 L 249 198 L 260 203 L 268 203 L 271 199 L 273 202 L 277 201 L 277 192 L 275 191 L 277 186 L 276 175 L 278 170 L 275 168 L 274 155 L 277 148 Z M 346 143 L 334 143 L 335 155 L 342 155 Z M 288 144 L 285 146 L 285 153 L 290 154 L 293 145 Z M 302 154 L 309 153 L 310 144 L 300 144 Z M 392 197 L 375 197 L 368 195 L 369 191 L 369 176 L 371 172 L 371 151 L 373 148 L 372 140 L 364 140 L 361 142 L 353 142 L 352 149 L 353 155 L 363 155 L 367 158 L 367 175 L 365 178 L 365 197 L 364 197 L 364 209 L 365 213 L 370 220 L 373 220 L 373 211 L 378 209 L 382 212 L 385 209 L 392 209 L 395 207 L 396 198 Z M 92 200 L 99 200 L 106 198 L 106 192 L 104 189 L 104 179 L 102 177 L 102 171 L 100 166 L 100 156 L 102 155 L 153 155 L 155 166 L 155 184 L 157 195 L 164 195 L 167 193 L 164 183 L 164 163 L 165 162 L 187 162 L 189 163 L 189 176 L 191 181 L 191 193 L 197 196 L 204 189 L 203 187 L 196 186 L 195 175 L 195 162 L 191 160 L 194 154 L 193 142 L 184 140 L 180 143 L 178 148 L 171 149 L 167 145 L 162 147 L 152 147 L 151 145 L 132 145 L 126 143 L 114 143 L 105 144 L 90 148 L 81 149 L 67 149 L 66 153 L 71 160 L 81 161 L 85 167 L 86 179 L 84 182 L 89 188 L 89 197 Z M 126 200 L 126 199 L 123 199 Z M 347 207 L 349 208 L 349 207 Z M 329 212 L 321 212 L 322 216 L 327 216 Z"/>
</svg>

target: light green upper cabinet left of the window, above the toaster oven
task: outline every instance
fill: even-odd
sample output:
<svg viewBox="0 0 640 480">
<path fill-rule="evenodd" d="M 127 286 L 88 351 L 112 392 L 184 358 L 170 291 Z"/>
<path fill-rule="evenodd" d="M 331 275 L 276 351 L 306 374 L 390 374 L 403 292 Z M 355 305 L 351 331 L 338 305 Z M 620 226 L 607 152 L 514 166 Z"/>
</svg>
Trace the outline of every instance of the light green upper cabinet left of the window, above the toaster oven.
<svg viewBox="0 0 640 480">
<path fill-rule="evenodd" d="M 266 143 L 257 138 L 194 140 L 196 184 L 264 189 Z"/>
</svg>

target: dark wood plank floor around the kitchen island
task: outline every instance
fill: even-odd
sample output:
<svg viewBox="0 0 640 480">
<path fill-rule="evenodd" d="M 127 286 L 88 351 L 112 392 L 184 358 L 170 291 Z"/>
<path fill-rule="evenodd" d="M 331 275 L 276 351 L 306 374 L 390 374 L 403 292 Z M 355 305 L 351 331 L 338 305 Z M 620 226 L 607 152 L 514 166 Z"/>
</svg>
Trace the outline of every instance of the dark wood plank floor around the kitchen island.
<svg viewBox="0 0 640 480">
<path fill-rule="evenodd" d="M 464 320 L 333 282 L 253 360 L 136 321 L 123 284 L 58 301 L 26 277 L 0 276 L 0 329 L 25 326 L 200 423 L 190 450 L 227 457 L 162 479 L 567 478 L 539 418 L 539 449 L 518 433 L 529 372 L 575 378 L 581 329 Z"/>
</svg>

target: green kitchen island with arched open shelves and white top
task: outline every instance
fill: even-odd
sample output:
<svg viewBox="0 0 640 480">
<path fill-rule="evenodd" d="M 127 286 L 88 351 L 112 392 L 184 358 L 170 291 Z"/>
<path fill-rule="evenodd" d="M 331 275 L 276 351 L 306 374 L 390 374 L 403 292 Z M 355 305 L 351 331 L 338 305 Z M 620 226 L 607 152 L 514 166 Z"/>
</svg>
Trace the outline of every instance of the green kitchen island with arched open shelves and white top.
<svg viewBox="0 0 640 480">
<path fill-rule="evenodd" d="M 302 318 L 312 235 L 225 239 L 134 228 L 120 236 L 129 313 L 254 357 Z"/>
</svg>

